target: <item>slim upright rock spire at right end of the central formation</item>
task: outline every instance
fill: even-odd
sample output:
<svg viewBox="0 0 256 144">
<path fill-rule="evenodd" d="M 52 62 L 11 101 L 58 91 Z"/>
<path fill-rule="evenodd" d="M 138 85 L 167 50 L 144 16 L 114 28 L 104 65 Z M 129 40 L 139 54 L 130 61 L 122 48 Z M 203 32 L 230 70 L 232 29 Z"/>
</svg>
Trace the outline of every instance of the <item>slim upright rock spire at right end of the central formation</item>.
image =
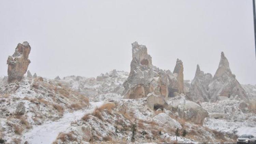
<svg viewBox="0 0 256 144">
<path fill-rule="evenodd" d="M 178 93 L 184 93 L 183 62 L 177 59 L 173 74 L 177 74 Z"/>
</svg>

